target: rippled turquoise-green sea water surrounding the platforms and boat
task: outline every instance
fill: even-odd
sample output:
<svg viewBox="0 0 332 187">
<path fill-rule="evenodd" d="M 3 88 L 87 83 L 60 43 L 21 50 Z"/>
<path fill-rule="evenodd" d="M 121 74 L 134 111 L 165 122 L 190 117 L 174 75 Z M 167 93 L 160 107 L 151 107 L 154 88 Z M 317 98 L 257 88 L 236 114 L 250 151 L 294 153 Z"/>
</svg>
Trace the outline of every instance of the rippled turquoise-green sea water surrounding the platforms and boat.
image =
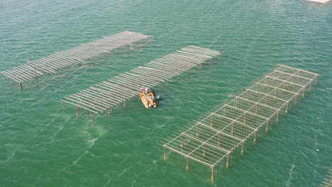
<svg viewBox="0 0 332 187">
<path fill-rule="evenodd" d="M 0 70 L 124 30 L 153 42 L 60 70 L 23 91 L 0 82 L 0 186 L 318 186 L 332 166 L 332 6 L 305 0 L 0 1 Z M 202 69 L 155 87 L 111 117 L 60 98 L 187 45 L 218 50 Z M 319 81 L 255 147 L 211 183 L 162 161 L 163 138 L 285 64 Z M 206 174 L 209 176 L 209 174 Z"/>
</svg>

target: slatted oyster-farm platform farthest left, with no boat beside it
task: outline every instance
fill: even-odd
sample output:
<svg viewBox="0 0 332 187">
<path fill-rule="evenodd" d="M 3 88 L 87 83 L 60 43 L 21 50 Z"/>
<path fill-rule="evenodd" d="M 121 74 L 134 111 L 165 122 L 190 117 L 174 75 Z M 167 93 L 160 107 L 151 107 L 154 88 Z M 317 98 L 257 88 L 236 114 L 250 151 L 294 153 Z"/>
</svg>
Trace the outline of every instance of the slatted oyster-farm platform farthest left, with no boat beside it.
<svg viewBox="0 0 332 187">
<path fill-rule="evenodd" d="M 140 33 L 133 33 L 124 31 L 116 35 L 110 35 L 99 40 L 94 40 L 77 47 L 72 47 L 69 50 L 62 52 L 55 52 L 48 57 L 43 57 L 38 60 L 29 61 L 26 64 L 21 64 L 18 67 L 4 70 L 0 72 L 3 77 L 11 79 L 11 81 L 18 82 L 22 89 L 22 82 L 35 79 L 45 73 L 54 73 L 57 69 L 67 67 L 71 64 L 83 62 L 92 57 L 96 57 L 104 52 L 110 52 L 119 47 L 126 45 L 133 46 L 133 42 L 138 42 L 150 38 L 150 35 L 143 35 Z"/>
</svg>

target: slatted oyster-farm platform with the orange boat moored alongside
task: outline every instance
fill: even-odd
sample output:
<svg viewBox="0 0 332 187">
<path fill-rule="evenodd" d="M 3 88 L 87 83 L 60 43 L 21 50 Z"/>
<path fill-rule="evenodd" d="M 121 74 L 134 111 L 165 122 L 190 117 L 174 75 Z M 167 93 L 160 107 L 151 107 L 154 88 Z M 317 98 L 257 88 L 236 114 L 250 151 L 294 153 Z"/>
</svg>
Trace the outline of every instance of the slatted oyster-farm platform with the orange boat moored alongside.
<svg viewBox="0 0 332 187">
<path fill-rule="evenodd" d="M 220 55 L 220 52 L 197 46 L 185 47 L 60 101 L 63 108 L 65 103 L 76 106 L 77 115 L 79 115 L 78 108 L 84 108 L 92 113 L 107 111 L 110 114 L 110 108 L 119 103 L 126 106 L 127 99 L 139 96 L 141 86 L 153 87 L 164 81 L 167 84 L 167 79 L 179 76 L 187 70 L 190 72 L 190 69 L 197 65 L 201 67 L 203 62 L 211 61 L 216 55 Z"/>
</svg>

